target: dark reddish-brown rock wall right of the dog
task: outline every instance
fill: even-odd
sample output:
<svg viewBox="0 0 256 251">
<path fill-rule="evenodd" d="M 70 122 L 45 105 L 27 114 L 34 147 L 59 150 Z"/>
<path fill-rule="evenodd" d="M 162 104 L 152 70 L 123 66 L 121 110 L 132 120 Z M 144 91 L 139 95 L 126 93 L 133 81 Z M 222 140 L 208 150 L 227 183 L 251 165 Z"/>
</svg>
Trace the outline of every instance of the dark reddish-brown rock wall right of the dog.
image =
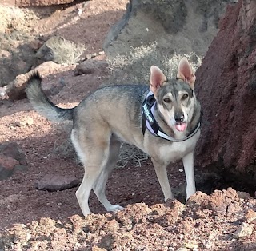
<svg viewBox="0 0 256 251">
<path fill-rule="evenodd" d="M 229 6 L 197 73 L 203 125 L 198 164 L 256 177 L 256 2 Z M 219 165 L 219 166 L 220 166 Z"/>
</svg>

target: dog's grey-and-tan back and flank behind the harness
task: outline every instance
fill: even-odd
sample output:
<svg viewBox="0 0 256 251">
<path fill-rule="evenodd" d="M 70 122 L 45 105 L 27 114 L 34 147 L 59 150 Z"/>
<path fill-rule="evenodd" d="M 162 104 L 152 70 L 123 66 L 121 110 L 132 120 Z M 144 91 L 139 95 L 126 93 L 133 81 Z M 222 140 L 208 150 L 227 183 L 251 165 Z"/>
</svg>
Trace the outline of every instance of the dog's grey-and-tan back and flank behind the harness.
<svg viewBox="0 0 256 251">
<path fill-rule="evenodd" d="M 146 85 L 106 86 L 96 90 L 76 107 L 74 129 L 91 127 L 94 131 L 96 124 L 106 122 L 122 141 L 130 142 L 133 135 L 143 137 L 141 110 L 148 91 Z M 136 141 L 130 143 L 137 145 Z"/>
</svg>

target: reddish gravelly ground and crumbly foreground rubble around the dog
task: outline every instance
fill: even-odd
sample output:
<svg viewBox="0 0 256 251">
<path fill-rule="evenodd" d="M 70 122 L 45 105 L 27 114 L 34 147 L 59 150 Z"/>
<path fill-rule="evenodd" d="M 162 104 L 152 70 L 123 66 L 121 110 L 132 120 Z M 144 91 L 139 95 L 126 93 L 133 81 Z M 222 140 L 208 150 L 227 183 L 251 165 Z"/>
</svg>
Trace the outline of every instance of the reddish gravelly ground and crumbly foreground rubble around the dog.
<svg viewBox="0 0 256 251">
<path fill-rule="evenodd" d="M 92 0 L 79 20 L 71 17 L 78 6 L 71 6 L 63 10 L 66 18 L 59 29 L 53 27 L 63 17 L 60 10 L 38 21 L 34 32 L 52 30 L 85 43 L 87 53 L 98 52 L 125 6 L 125 0 Z M 74 66 L 63 66 L 43 79 L 45 88 L 64 83 L 51 96 L 59 106 L 75 106 L 108 77 L 97 70 L 74 76 L 73 70 Z M 150 161 L 115 169 L 110 177 L 107 197 L 124 206 L 123 211 L 106 213 L 92 194 L 93 213 L 82 217 L 74 195 L 77 188 L 52 193 L 35 188 L 40 177 L 49 173 L 82 178 L 82 166 L 66 149 L 69 126 L 51 124 L 26 99 L 2 102 L 0 117 L 0 142 L 17 142 L 28 162 L 26 172 L 0 181 L 0 250 L 256 250 L 256 200 L 227 189 L 210 196 L 198 192 L 186 205 L 175 200 L 163 204 Z M 26 125 L 31 119 L 33 123 Z M 17 126 L 17 122 L 25 123 Z M 185 183 L 181 168 L 177 164 L 168 169 L 174 188 Z"/>
</svg>

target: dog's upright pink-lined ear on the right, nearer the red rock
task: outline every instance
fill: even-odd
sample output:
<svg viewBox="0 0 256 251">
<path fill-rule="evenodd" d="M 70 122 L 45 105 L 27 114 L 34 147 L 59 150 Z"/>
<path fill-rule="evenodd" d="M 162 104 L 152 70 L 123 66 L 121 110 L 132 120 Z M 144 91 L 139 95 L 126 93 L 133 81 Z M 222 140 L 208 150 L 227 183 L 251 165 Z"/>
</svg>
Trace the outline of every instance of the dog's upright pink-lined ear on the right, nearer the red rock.
<svg viewBox="0 0 256 251">
<path fill-rule="evenodd" d="M 184 57 L 178 63 L 178 74 L 177 78 L 187 82 L 191 89 L 194 90 L 195 75 L 190 65 L 190 62 Z"/>
</svg>

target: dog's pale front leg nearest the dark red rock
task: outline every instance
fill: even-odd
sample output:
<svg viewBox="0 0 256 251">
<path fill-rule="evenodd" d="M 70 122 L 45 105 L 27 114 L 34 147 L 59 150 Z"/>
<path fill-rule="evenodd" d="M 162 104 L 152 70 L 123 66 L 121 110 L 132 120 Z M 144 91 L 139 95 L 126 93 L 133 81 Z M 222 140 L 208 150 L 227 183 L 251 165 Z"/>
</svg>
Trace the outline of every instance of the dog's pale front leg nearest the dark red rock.
<svg viewBox="0 0 256 251">
<path fill-rule="evenodd" d="M 186 200 L 196 192 L 194 182 L 194 152 L 186 154 L 182 158 L 186 174 Z"/>
</svg>

